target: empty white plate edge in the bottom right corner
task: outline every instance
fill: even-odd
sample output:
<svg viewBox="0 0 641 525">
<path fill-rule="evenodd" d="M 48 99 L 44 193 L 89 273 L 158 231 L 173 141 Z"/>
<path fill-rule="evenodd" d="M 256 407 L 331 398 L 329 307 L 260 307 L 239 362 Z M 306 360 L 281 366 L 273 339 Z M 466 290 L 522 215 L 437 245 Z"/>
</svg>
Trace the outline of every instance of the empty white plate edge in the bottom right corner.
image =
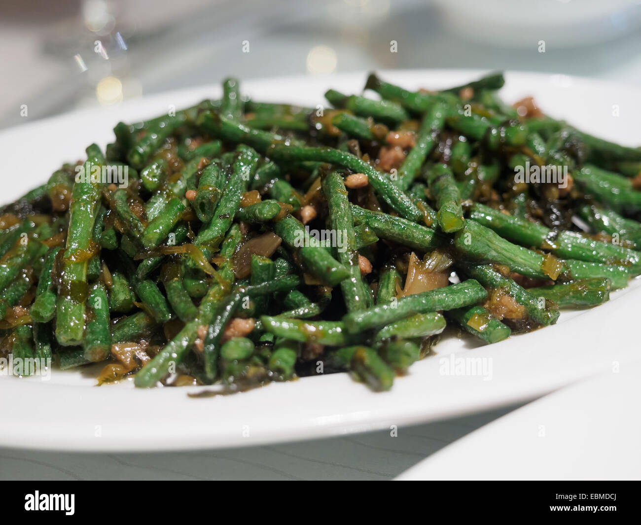
<svg viewBox="0 0 641 525">
<path fill-rule="evenodd" d="M 638 480 L 639 374 L 637 362 L 562 388 L 456 440 L 395 479 Z"/>
</svg>

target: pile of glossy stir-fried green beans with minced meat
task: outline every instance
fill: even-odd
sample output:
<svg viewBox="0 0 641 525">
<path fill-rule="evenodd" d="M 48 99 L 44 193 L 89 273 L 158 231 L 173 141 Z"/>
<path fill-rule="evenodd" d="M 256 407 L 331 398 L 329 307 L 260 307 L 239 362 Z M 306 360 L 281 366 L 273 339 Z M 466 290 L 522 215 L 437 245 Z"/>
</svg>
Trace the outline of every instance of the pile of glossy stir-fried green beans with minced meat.
<svg viewBox="0 0 641 525">
<path fill-rule="evenodd" d="M 65 164 L 1 208 L 0 356 L 137 387 L 349 371 L 388 390 L 448 325 L 492 344 L 608 301 L 641 274 L 641 150 L 519 116 L 503 83 L 372 74 L 377 97 L 301 108 L 228 78 L 120 122 L 82 165 L 124 183 Z"/>
</svg>

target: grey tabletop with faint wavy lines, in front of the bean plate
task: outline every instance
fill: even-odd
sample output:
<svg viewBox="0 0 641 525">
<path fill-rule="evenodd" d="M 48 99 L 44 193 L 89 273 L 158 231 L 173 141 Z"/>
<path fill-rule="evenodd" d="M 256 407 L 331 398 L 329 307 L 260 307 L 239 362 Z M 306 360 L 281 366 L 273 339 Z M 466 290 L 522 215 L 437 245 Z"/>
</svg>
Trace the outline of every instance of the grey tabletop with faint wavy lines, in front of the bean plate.
<svg viewBox="0 0 641 525">
<path fill-rule="evenodd" d="M 393 479 L 518 406 L 449 421 L 271 446 L 153 454 L 0 449 L 0 479 Z"/>
</svg>

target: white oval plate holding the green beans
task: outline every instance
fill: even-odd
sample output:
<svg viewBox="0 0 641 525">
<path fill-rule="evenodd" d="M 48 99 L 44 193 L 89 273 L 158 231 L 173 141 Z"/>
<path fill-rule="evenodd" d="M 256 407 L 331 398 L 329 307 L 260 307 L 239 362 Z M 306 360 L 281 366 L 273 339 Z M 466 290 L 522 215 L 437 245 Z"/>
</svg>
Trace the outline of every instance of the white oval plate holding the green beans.
<svg viewBox="0 0 641 525">
<path fill-rule="evenodd" d="M 481 74 L 381 72 L 408 88 L 442 88 Z M 272 78 L 242 87 L 258 100 L 315 105 L 329 87 L 359 92 L 365 77 Z M 579 128 L 624 144 L 641 142 L 636 110 L 641 92 L 634 88 L 559 75 L 510 73 L 506 79 L 507 101 L 532 94 L 546 112 Z M 219 95 L 217 86 L 168 92 L 3 131 L 2 200 L 10 202 L 44 182 L 62 162 L 83 158 L 91 142 L 104 147 L 120 120 L 153 117 L 170 105 L 181 108 Z M 614 104 L 619 117 L 612 116 Z M 556 326 L 492 346 L 448 338 L 436 347 L 437 356 L 413 365 L 383 394 L 370 392 L 347 374 L 197 399 L 187 393 L 198 387 L 140 390 L 130 380 L 96 387 L 96 369 L 53 371 L 46 381 L 1 375 L 0 446 L 121 452 L 249 446 L 417 424 L 531 399 L 614 361 L 635 358 L 638 286 L 638 281 L 631 283 L 593 310 L 563 313 Z"/>
</svg>

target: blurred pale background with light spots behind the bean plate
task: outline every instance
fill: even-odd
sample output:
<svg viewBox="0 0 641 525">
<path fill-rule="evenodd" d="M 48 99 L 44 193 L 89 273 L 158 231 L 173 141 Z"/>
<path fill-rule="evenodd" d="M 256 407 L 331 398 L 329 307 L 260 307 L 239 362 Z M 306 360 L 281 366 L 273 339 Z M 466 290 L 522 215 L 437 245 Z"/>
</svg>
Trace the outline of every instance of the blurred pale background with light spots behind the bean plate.
<svg viewBox="0 0 641 525">
<path fill-rule="evenodd" d="M 31 121 L 228 75 L 447 67 L 638 83 L 640 22 L 640 0 L 5 0 L 0 127 L 24 122 L 21 104 Z"/>
</svg>

